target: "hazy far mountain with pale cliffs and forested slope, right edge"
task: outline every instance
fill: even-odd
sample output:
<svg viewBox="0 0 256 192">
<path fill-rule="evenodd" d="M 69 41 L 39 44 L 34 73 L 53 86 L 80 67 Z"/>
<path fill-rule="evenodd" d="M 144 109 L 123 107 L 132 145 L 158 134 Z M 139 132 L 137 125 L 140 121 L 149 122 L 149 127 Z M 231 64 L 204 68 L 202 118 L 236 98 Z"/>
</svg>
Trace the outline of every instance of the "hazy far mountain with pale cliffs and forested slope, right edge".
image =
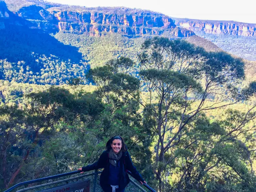
<svg viewBox="0 0 256 192">
<path fill-rule="evenodd" d="M 256 61 L 256 24 L 172 18 L 175 25 L 192 30 L 197 36 L 238 57 Z"/>
</svg>

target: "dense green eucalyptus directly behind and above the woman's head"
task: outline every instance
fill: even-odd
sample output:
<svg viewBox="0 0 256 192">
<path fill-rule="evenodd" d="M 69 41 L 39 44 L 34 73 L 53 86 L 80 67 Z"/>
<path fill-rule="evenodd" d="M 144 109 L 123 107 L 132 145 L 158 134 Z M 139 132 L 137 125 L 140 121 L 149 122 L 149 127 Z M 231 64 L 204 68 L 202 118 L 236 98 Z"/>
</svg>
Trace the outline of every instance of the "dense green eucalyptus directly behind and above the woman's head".
<svg viewBox="0 0 256 192">
<path fill-rule="evenodd" d="M 93 129 L 99 130 L 98 137 L 102 139 L 123 136 L 136 167 L 150 178 L 153 175 L 149 151 L 152 142 L 150 118 L 142 119 L 139 112 L 140 81 L 131 75 L 134 65 L 131 59 L 120 57 L 108 61 L 105 66 L 90 69 L 87 78 L 97 86 L 95 93 L 105 104 Z"/>
</svg>

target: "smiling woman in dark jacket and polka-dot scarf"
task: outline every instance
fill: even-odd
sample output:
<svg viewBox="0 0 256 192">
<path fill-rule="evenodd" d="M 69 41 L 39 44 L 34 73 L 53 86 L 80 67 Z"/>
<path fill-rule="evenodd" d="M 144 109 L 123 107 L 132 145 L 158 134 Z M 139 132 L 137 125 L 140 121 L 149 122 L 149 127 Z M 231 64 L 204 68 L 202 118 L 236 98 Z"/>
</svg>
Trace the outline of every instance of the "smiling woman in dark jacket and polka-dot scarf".
<svg viewBox="0 0 256 192">
<path fill-rule="evenodd" d="M 103 151 L 97 162 L 78 170 L 83 173 L 99 168 L 104 168 L 100 175 L 100 186 L 105 192 L 124 192 L 130 182 L 127 170 L 131 171 L 134 178 L 141 184 L 146 183 L 134 167 L 121 136 L 114 136 L 108 140 L 106 150 Z"/>
</svg>

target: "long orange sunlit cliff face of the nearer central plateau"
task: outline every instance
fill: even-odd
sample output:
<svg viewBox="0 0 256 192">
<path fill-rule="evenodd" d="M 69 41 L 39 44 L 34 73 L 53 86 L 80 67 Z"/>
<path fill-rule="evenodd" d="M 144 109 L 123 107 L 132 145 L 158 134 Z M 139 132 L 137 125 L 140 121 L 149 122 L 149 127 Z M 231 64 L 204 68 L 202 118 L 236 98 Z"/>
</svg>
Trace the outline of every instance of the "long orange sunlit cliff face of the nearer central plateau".
<svg viewBox="0 0 256 192">
<path fill-rule="evenodd" d="M 171 30 L 176 27 L 171 18 L 158 15 L 118 15 L 69 11 L 53 11 L 52 14 L 58 20 L 60 31 L 88 32 L 90 35 L 100 35 L 102 32 L 125 35 L 161 35 L 164 30 Z"/>
</svg>

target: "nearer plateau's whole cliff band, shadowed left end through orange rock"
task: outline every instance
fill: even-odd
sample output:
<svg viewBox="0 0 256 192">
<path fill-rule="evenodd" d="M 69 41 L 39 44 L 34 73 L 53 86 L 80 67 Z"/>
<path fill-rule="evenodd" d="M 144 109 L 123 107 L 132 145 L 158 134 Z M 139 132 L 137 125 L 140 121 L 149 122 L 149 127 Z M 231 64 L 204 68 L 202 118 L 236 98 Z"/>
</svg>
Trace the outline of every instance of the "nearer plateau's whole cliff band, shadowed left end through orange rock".
<svg viewBox="0 0 256 192">
<path fill-rule="evenodd" d="M 8 17 L 8 9 L 3 2 L 0 4 L 0 17 Z M 179 29 L 174 21 L 165 15 L 136 10 L 129 12 L 128 8 L 110 10 L 97 9 L 68 9 L 55 8 L 45 10 L 41 6 L 30 5 L 22 7 L 17 12 L 10 12 L 22 18 L 31 29 L 45 31 L 65 31 L 72 33 L 88 33 L 91 36 L 100 36 L 104 32 L 121 33 L 124 35 L 161 35 L 165 31 L 177 37 L 194 35 L 192 31 Z M 23 25 L 23 24 L 22 24 Z M 0 21 L 0 29 L 4 23 Z"/>
</svg>

